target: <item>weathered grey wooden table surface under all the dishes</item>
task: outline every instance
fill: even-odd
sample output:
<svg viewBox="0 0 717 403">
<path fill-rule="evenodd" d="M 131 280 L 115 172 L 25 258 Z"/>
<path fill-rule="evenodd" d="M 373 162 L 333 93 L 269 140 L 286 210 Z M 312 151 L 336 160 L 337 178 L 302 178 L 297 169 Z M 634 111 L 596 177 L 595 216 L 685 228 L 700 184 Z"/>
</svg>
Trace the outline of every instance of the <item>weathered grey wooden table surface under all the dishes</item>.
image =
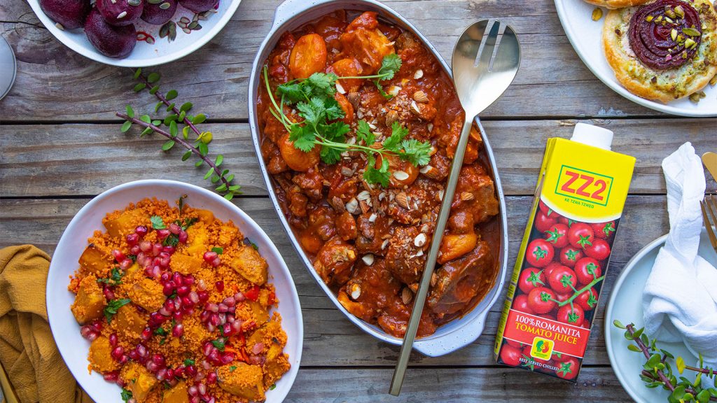
<svg viewBox="0 0 717 403">
<path fill-rule="evenodd" d="M 577 1 L 577 0 L 576 0 Z M 199 51 L 156 68 L 163 88 L 209 115 L 212 148 L 237 173 L 237 206 L 265 228 L 291 268 L 304 315 L 304 351 L 288 402 L 627 402 L 604 347 L 604 302 L 577 384 L 495 364 L 496 304 L 483 336 L 439 358 L 415 354 L 401 397 L 386 392 L 399 349 L 353 326 L 314 283 L 270 208 L 247 124 L 247 82 L 258 44 L 280 0 L 244 0 L 227 27 Z M 550 0 L 386 1 L 413 22 L 444 57 L 475 19 L 511 24 L 523 46 L 516 81 L 483 113 L 508 203 L 511 257 L 526 224 L 546 139 L 569 137 L 578 121 L 614 131 L 613 149 L 637 157 L 603 300 L 627 260 L 668 230 L 660 161 L 685 141 L 715 148 L 716 119 L 656 113 L 620 97 L 579 60 Z M 151 110 L 131 91 L 131 72 L 72 52 L 47 32 L 23 1 L 0 2 L 0 32 L 18 60 L 17 80 L 0 101 L 0 247 L 30 243 L 49 253 L 93 196 L 136 179 L 176 179 L 205 186 L 204 170 L 159 151 L 162 138 L 120 133 L 114 112 Z M 708 189 L 717 190 L 713 179 Z"/>
</svg>

